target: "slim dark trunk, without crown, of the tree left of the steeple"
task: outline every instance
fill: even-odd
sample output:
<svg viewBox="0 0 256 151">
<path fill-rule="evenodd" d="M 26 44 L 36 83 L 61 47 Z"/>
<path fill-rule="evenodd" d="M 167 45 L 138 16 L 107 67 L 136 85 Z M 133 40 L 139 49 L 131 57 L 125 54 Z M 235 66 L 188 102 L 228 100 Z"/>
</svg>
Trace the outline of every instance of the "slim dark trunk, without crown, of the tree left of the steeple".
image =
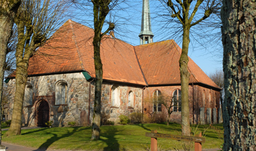
<svg viewBox="0 0 256 151">
<path fill-rule="evenodd" d="M 99 29 L 98 29 L 99 30 Z M 100 29 L 101 31 L 101 29 Z M 94 47 L 94 64 L 95 64 L 95 101 L 93 110 L 92 138 L 91 140 L 99 140 L 100 138 L 100 108 L 101 108 L 101 85 L 102 85 L 102 62 L 100 59 L 100 31 L 93 38 Z"/>
</svg>

